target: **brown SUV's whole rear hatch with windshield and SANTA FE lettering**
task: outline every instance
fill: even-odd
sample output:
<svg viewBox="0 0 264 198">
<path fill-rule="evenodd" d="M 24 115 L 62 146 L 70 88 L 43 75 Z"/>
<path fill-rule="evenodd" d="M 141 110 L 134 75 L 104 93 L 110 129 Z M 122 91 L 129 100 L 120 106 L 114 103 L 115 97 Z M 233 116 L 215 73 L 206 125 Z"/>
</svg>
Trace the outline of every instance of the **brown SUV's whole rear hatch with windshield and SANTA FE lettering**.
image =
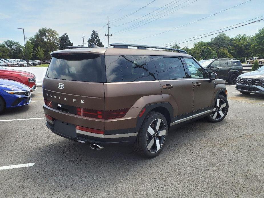
<svg viewBox="0 0 264 198">
<path fill-rule="evenodd" d="M 43 80 L 45 104 L 52 110 L 49 116 L 104 130 L 104 55 L 65 52 L 52 56 Z"/>
</svg>

